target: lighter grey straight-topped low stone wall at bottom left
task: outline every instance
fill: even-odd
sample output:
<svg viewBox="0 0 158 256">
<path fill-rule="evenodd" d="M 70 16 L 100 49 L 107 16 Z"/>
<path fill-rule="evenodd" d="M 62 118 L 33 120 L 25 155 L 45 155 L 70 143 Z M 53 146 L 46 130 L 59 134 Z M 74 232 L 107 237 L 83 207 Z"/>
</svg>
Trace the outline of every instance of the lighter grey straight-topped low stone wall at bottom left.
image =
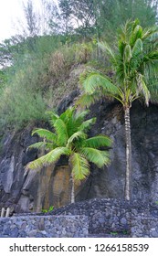
<svg viewBox="0 0 158 256">
<path fill-rule="evenodd" d="M 85 238 L 85 216 L 24 216 L 0 219 L 0 238 Z"/>
</svg>

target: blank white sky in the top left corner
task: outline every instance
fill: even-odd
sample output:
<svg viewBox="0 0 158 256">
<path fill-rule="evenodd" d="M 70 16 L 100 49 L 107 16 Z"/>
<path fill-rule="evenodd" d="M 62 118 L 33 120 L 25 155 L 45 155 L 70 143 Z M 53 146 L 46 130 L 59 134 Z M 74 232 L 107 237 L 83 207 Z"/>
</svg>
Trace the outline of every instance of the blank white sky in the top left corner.
<svg viewBox="0 0 158 256">
<path fill-rule="evenodd" d="M 27 0 L 0 0 L 0 42 L 18 34 L 18 20 L 24 20 L 23 3 Z M 32 0 L 39 6 L 40 0 Z"/>
</svg>

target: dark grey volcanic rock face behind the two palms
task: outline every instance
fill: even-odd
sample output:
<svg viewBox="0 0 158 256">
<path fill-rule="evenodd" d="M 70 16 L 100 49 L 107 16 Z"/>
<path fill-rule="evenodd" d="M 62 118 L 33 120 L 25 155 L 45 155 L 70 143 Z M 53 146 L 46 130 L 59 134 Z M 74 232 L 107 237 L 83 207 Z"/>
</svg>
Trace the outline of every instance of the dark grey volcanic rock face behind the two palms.
<svg viewBox="0 0 158 256">
<path fill-rule="evenodd" d="M 77 94 L 73 93 L 72 97 Z M 62 102 L 62 111 L 72 102 Z M 158 200 L 158 106 L 146 108 L 135 102 L 131 110 L 132 123 L 132 198 Z M 111 165 L 98 169 L 91 165 L 90 177 L 76 187 L 76 200 L 94 197 L 123 198 L 125 177 L 125 136 L 121 105 L 116 102 L 96 103 L 90 112 L 97 122 L 90 136 L 99 133 L 113 140 Z M 40 124 L 38 127 L 41 127 Z M 25 165 L 37 158 L 37 150 L 27 146 L 37 142 L 31 136 L 33 127 L 8 133 L 0 156 L 0 208 L 12 207 L 16 212 L 40 211 L 49 206 L 69 203 L 69 170 L 65 160 L 40 172 L 25 171 Z"/>
</svg>

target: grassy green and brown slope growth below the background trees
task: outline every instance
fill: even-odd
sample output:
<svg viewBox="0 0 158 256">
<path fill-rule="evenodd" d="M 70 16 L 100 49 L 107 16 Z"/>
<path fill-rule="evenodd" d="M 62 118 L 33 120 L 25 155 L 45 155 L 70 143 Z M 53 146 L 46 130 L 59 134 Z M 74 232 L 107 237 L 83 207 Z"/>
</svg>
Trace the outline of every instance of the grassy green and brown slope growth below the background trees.
<svg viewBox="0 0 158 256">
<path fill-rule="evenodd" d="M 9 57 L 14 65 L 0 73 L 1 129 L 46 121 L 47 109 L 54 109 L 77 88 L 65 83 L 69 70 L 75 63 L 87 62 L 94 48 L 92 43 L 62 46 L 59 37 L 53 36 L 36 37 L 31 47 L 28 40 L 23 54 Z"/>
</svg>

